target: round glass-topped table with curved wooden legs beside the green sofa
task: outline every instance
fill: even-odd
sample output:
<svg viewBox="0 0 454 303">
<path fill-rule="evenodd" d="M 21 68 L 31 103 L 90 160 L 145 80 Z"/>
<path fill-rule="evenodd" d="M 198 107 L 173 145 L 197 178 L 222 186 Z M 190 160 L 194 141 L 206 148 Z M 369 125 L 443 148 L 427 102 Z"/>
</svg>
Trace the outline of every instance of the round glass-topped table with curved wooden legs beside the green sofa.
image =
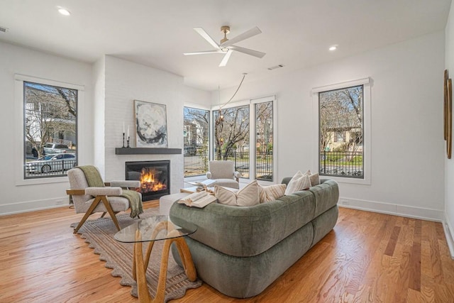
<svg viewBox="0 0 454 303">
<path fill-rule="evenodd" d="M 179 257 L 182 260 L 184 271 L 190 281 L 196 280 L 196 270 L 192 262 L 191 252 L 184 241 L 197 230 L 194 224 L 185 224 L 179 227 L 170 221 L 169 216 L 158 215 L 131 224 L 115 234 L 114 238 L 119 242 L 134 243 L 133 251 L 133 278 L 137 282 L 137 293 L 139 302 L 164 302 L 165 282 L 167 280 L 167 265 L 169 263 L 169 251 L 172 243 L 178 249 Z M 148 292 L 146 271 L 150 261 L 151 250 L 155 241 L 164 241 L 160 264 L 159 280 L 155 298 Z M 149 242 L 145 258 L 143 258 L 142 243 Z"/>
</svg>

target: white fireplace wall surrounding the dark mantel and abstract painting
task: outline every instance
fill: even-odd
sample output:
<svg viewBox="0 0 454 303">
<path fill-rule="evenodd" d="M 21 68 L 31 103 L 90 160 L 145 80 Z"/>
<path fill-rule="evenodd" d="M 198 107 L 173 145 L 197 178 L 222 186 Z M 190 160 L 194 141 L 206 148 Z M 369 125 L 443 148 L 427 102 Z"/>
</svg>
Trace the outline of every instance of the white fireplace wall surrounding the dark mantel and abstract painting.
<svg viewBox="0 0 454 303">
<path fill-rule="evenodd" d="M 104 158 L 106 180 L 122 180 L 126 161 L 170 160 L 170 190 L 179 192 L 183 187 L 183 155 L 116 155 L 115 148 L 122 146 L 123 121 L 129 126 L 131 147 L 135 147 L 134 99 L 165 104 L 167 109 L 167 141 L 169 148 L 183 149 L 183 104 L 206 104 L 210 94 L 190 89 L 183 78 L 170 72 L 144 65 L 105 57 L 106 99 Z M 102 148 L 96 153 L 102 153 Z M 96 162 L 96 165 L 104 163 Z"/>
</svg>

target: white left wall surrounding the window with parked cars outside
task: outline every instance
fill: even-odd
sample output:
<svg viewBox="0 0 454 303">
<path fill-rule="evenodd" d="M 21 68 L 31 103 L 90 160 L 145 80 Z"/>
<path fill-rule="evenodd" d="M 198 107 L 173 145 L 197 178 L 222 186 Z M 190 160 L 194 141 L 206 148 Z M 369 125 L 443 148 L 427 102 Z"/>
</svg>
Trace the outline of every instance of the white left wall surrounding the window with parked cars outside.
<svg viewBox="0 0 454 303">
<path fill-rule="evenodd" d="M 23 121 L 21 92 L 15 89 L 15 74 L 84 86 L 79 102 L 79 162 L 92 161 L 92 66 L 63 57 L 28 50 L 0 42 L 0 128 L 4 148 L 0 149 L 0 214 L 43 209 L 67 204 L 67 178 L 45 183 L 21 180 Z M 80 133 L 83 132 L 84 136 Z"/>
</svg>

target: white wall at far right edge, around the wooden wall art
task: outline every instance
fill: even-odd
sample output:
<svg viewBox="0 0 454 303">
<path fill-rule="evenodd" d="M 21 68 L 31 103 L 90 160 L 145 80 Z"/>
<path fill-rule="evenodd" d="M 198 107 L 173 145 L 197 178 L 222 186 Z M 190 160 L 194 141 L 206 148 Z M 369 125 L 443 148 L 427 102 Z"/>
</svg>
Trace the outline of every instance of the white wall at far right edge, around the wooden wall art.
<svg viewBox="0 0 454 303">
<path fill-rule="evenodd" d="M 454 6 L 451 5 L 445 28 L 445 69 L 454 79 Z M 451 129 L 451 131 L 453 131 Z M 454 153 L 445 158 L 445 233 L 451 255 L 454 257 Z"/>
</svg>

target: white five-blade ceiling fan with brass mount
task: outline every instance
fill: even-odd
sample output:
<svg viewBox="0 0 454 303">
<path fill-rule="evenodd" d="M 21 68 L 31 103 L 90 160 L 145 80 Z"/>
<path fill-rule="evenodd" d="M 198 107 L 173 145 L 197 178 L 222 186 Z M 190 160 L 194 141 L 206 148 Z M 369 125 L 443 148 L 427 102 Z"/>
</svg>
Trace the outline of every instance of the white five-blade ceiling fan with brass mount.
<svg viewBox="0 0 454 303">
<path fill-rule="evenodd" d="M 204 31 L 203 28 L 194 28 L 194 31 L 199 33 L 202 38 L 204 38 L 208 43 L 214 46 L 214 50 L 204 50 L 201 52 L 192 52 L 192 53 L 184 53 L 184 55 L 204 55 L 204 54 L 214 54 L 214 53 L 223 53 L 225 54 L 221 64 L 219 64 L 219 67 L 226 66 L 228 59 L 233 53 L 233 50 L 236 50 L 237 52 L 240 53 L 245 53 L 248 55 L 252 55 L 254 57 L 263 57 L 266 55 L 265 53 L 259 52 L 257 50 L 250 50 L 249 48 L 241 48 L 240 46 L 233 45 L 233 43 L 237 43 L 240 41 L 243 41 L 247 38 L 253 37 L 254 35 L 258 35 L 259 33 L 262 33 L 260 29 L 255 26 L 255 28 L 251 28 L 249 31 L 245 31 L 244 33 L 237 35 L 235 38 L 228 39 L 227 34 L 230 33 L 230 26 L 221 26 L 221 33 L 224 34 L 224 38 L 221 40 L 221 43 L 216 43 L 216 41 L 210 37 L 206 31 Z"/>
</svg>

